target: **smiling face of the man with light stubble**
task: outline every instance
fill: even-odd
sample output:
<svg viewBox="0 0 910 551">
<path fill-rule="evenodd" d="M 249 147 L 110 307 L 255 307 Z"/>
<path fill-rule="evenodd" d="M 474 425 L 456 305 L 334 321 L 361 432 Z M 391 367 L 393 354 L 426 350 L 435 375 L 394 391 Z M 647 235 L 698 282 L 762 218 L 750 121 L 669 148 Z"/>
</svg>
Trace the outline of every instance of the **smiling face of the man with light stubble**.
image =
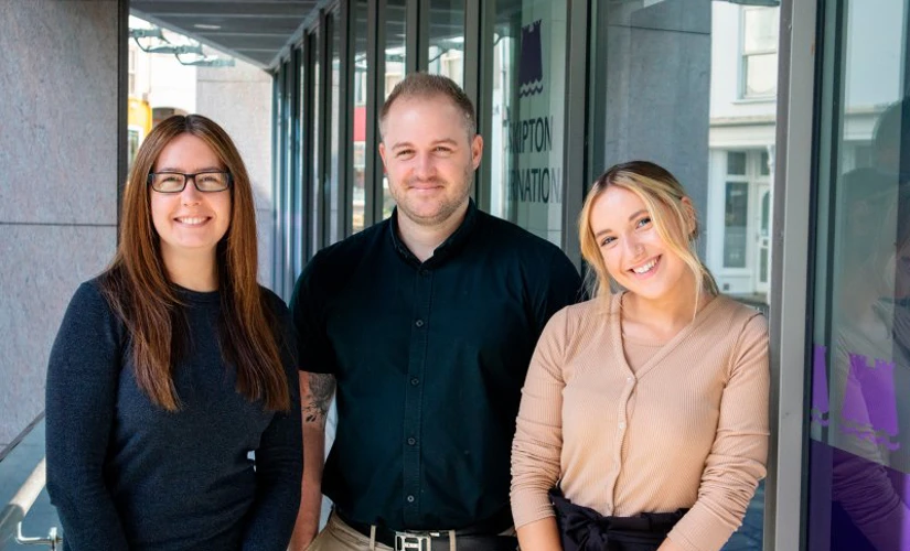
<svg viewBox="0 0 910 551">
<path fill-rule="evenodd" d="M 400 98 L 383 121 L 379 154 L 400 215 L 437 226 L 467 205 L 483 141 L 443 96 Z"/>
</svg>

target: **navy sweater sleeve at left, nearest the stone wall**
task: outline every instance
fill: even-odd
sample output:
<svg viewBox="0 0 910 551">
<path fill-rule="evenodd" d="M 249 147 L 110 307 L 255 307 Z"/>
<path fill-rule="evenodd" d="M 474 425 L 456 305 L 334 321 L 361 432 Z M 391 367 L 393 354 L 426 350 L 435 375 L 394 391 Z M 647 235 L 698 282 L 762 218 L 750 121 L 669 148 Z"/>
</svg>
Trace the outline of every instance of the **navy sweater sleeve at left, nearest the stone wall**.
<svg viewBox="0 0 910 551">
<path fill-rule="evenodd" d="M 104 475 L 120 364 L 115 314 L 83 283 L 51 350 L 45 397 L 47 494 L 74 551 L 128 549 Z"/>
</svg>

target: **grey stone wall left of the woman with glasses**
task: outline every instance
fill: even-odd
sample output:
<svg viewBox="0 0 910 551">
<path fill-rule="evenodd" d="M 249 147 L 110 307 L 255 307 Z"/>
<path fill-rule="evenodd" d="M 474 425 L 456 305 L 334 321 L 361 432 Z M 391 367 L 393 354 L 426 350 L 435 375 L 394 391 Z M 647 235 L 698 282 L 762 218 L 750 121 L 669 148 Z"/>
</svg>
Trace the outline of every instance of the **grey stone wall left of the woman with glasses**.
<svg viewBox="0 0 910 551">
<path fill-rule="evenodd" d="M 114 256 L 125 6 L 0 0 L 0 450 L 44 410 L 63 312 Z"/>
</svg>

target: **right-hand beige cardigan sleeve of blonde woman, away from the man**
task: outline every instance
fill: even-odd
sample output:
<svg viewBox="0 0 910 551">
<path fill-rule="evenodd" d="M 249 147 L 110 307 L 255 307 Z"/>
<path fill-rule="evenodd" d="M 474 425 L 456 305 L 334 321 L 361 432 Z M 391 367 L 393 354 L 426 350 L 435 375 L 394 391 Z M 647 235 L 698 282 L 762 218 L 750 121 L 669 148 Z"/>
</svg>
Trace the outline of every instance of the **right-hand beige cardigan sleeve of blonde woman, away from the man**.
<svg viewBox="0 0 910 551">
<path fill-rule="evenodd" d="M 670 532 L 686 551 L 724 547 L 742 523 L 768 458 L 768 326 L 754 315 L 739 332 L 720 399 L 720 417 L 698 487 L 698 498 Z"/>
</svg>

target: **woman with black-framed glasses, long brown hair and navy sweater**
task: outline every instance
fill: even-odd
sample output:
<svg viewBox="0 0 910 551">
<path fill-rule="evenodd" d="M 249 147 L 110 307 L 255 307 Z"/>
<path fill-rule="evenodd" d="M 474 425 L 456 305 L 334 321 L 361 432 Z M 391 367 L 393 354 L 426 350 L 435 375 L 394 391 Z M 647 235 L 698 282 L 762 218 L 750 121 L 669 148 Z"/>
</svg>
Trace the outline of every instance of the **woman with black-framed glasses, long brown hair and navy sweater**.
<svg viewBox="0 0 910 551">
<path fill-rule="evenodd" d="M 302 469 L 296 346 L 285 304 L 256 282 L 253 192 L 231 138 L 199 115 L 162 121 L 120 219 L 47 370 L 64 549 L 285 550 Z"/>
</svg>

